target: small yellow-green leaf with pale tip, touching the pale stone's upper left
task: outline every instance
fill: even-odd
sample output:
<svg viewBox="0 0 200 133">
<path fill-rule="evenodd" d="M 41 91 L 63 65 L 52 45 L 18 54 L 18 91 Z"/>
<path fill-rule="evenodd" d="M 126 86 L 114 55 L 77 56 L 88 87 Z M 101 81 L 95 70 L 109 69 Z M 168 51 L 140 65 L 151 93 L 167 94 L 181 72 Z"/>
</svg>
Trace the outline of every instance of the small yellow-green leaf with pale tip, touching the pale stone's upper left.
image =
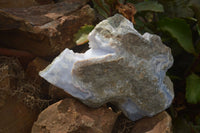
<svg viewBox="0 0 200 133">
<path fill-rule="evenodd" d="M 74 41 L 77 45 L 82 45 L 88 42 L 88 34 L 93 30 L 93 25 L 84 25 L 79 31 L 74 35 Z"/>
</svg>

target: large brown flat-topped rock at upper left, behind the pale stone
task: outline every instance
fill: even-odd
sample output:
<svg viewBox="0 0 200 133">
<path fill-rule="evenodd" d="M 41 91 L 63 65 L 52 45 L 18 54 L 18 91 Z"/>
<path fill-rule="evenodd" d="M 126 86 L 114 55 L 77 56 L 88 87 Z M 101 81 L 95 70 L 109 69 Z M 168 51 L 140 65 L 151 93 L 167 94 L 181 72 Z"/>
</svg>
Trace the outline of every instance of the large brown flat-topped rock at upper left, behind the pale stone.
<svg viewBox="0 0 200 133">
<path fill-rule="evenodd" d="M 72 48 L 73 35 L 95 15 L 87 0 L 68 0 L 29 8 L 0 9 L 0 44 L 53 56 Z M 85 5 L 85 6 L 84 6 Z"/>
</svg>

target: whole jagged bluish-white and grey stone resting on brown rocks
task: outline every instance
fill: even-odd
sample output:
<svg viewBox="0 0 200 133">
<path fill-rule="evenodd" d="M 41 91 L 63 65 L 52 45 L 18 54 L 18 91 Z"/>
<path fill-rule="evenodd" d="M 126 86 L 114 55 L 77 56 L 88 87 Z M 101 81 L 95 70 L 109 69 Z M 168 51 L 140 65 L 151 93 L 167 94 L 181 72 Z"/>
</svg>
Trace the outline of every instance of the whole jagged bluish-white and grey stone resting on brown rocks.
<svg viewBox="0 0 200 133">
<path fill-rule="evenodd" d="M 40 76 L 90 107 L 111 102 L 131 120 L 169 107 L 173 57 L 159 36 L 141 35 L 116 14 L 94 28 L 89 45 L 84 54 L 65 49 Z"/>
</svg>

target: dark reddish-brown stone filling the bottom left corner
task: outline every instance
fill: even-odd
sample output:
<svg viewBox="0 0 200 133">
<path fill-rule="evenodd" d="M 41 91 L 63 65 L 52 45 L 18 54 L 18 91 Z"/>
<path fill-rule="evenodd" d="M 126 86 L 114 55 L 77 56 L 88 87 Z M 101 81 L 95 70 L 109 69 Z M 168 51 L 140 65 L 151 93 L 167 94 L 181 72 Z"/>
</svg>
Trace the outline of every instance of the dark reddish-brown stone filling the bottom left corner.
<svg viewBox="0 0 200 133">
<path fill-rule="evenodd" d="M 27 108 L 16 97 L 7 97 L 5 101 L 0 108 L 0 133 L 30 133 L 38 112 Z"/>
</svg>

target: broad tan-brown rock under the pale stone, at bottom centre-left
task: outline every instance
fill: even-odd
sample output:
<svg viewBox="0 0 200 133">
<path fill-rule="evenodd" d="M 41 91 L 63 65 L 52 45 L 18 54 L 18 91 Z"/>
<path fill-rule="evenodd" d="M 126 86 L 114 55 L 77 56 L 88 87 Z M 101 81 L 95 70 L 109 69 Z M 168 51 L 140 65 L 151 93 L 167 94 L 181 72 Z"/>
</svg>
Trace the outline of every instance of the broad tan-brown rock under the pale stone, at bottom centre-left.
<svg viewBox="0 0 200 133">
<path fill-rule="evenodd" d="M 91 109 L 67 98 L 41 112 L 32 133 L 111 133 L 117 116 L 105 107 Z"/>
</svg>

